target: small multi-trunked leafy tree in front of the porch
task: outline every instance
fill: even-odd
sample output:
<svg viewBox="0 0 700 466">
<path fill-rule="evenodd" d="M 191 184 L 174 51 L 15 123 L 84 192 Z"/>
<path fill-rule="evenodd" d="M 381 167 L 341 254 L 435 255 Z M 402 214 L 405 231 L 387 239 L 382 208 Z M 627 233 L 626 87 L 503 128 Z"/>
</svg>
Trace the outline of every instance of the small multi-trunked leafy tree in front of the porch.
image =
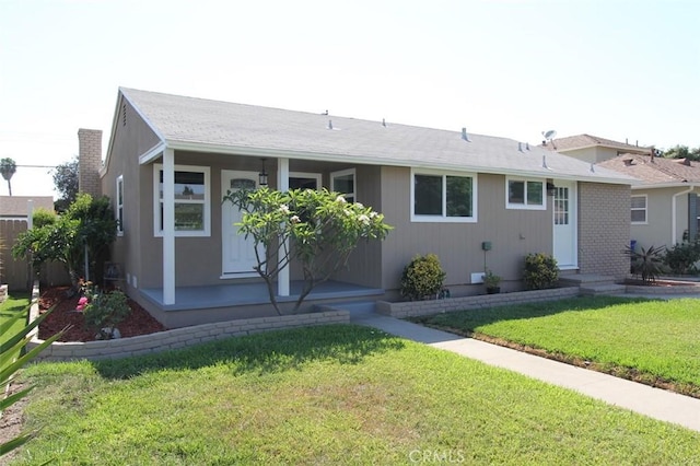
<svg viewBox="0 0 700 466">
<path fill-rule="evenodd" d="M 384 240 L 390 230 L 381 213 L 327 189 L 229 190 L 224 201 L 243 211 L 238 233 L 253 238 L 255 270 L 280 315 L 275 280 L 293 259 L 299 260 L 304 276 L 292 311 L 296 312 L 314 287 L 347 266 L 361 240 Z"/>
</svg>

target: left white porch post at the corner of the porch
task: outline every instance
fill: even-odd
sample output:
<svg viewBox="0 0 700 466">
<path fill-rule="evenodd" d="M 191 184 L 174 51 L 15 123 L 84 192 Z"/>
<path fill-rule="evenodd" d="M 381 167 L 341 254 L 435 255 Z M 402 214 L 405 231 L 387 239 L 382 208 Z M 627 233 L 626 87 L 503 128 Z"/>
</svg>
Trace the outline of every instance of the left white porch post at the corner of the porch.
<svg viewBox="0 0 700 466">
<path fill-rule="evenodd" d="M 163 151 L 163 304 L 175 304 L 175 151 Z"/>
</svg>

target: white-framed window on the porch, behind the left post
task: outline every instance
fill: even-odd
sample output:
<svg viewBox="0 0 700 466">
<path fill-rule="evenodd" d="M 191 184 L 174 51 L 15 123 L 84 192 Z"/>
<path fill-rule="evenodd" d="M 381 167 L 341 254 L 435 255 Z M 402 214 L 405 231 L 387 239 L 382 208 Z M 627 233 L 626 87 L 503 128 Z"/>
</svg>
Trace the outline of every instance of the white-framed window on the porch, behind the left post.
<svg viewBox="0 0 700 466">
<path fill-rule="evenodd" d="M 175 165 L 175 236 L 209 236 L 209 167 Z M 153 170 L 154 230 L 163 235 L 163 165 Z"/>
</svg>

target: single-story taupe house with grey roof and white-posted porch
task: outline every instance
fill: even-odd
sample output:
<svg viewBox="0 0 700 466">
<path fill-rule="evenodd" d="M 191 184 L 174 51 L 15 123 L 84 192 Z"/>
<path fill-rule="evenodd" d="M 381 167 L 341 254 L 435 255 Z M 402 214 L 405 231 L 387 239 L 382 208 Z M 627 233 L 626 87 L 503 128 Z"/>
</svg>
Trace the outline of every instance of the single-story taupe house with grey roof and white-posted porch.
<svg viewBox="0 0 700 466">
<path fill-rule="evenodd" d="M 485 263 L 518 289 L 528 253 L 553 254 L 572 273 L 628 272 L 632 180 L 617 172 L 464 129 L 120 89 L 100 174 L 120 220 L 113 260 L 127 293 L 171 327 L 269 313 L 250 241 L 234 225 L 241 213 L 221 201 L 259 186 L 262 172 L 271 188 L 345 193 L 394 226 L 307 305 L 397 298 L 417 254 L 440 257 L 453 295 L 483 292 Z M 300 278 L 296 267 L 280 276 L 280 301 Z"/>
</svg>

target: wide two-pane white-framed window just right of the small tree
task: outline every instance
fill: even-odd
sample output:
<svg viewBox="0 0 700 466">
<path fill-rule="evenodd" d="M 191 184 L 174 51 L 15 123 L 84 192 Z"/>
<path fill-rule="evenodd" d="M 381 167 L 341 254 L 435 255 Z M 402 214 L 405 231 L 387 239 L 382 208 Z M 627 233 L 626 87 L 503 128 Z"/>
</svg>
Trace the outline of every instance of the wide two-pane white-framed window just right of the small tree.
<svg viewBox="0 0 700 466">
<path fill-rule="evenodd" d="M 476 222 L 476 175 L 420 172 L 411 178 L 412 221 Z"/>
</svg>

